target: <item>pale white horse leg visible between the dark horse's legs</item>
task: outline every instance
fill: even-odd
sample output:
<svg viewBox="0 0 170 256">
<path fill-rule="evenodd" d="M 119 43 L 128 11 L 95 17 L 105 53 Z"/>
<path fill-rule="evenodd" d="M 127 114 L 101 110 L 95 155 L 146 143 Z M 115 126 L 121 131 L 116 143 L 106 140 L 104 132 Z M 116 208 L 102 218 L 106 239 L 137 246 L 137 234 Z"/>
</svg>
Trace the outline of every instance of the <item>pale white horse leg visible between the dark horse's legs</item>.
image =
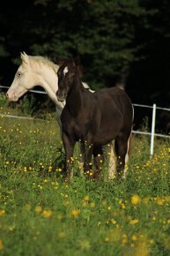
<svg viewBox="0 0 170 256">
<path fill-rule="evenodd" d="M 108 166 L 108 179 L 115 178 L 115 170 L 116 170 L 116 157 L 113 143 L 103 146 L 107 153 L 107 166 Z"/>
</svg>

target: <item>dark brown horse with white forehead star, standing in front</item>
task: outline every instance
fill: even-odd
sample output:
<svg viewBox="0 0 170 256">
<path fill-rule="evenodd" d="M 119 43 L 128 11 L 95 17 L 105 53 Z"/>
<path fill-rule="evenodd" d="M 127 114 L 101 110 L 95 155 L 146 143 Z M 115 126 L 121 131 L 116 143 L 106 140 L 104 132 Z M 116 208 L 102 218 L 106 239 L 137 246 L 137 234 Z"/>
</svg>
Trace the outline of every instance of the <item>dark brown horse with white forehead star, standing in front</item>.
<svg viewBox="0 0 170 256">
<path fill-rule="evenodd" d="M 116 170 L 125 177 L 129 138 L 133 123 L 133 107 L 129 96 L 117 87 L 96 90 L 93 94 L 83 87 L 79 67 L 73 60 L 63 61 L 58 72 L 58 101 L 66 100 L 61 121 L 65 150 L 65 178 L 72 174 L 72 157 L 76 141 L 85 145 L 84 172 L 92 174 L 92 154 L 98 180 L 103 162 L 102 146 L 115 139 Z"/>
</svg>

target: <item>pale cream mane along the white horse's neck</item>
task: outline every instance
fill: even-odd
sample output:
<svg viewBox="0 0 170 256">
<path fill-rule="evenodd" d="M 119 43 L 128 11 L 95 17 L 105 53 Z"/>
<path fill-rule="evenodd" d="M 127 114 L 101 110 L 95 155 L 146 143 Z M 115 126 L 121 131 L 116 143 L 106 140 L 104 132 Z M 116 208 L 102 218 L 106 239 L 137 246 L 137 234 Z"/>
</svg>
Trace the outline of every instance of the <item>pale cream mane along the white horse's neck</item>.
<svg viewBox="0 0 170 256">
<path fill-rule="evenodd" d="M 47 56 L 29 56 L 29 60 L 31 65 L 34 67 L 41 64 L 48 66 L 49 68 L 53 69 L 55 72 L 58 70 L 58 65 L 52 62 Z"/>
</svg>

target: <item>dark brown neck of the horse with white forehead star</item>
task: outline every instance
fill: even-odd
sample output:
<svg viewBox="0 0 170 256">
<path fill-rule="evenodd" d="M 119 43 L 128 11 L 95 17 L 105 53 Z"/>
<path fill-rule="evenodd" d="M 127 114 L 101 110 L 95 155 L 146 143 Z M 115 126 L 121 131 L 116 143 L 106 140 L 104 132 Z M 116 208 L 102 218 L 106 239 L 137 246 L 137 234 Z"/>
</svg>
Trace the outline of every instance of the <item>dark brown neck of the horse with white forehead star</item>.
<svg viewBox="0 0 170 256">
<path fill-rule="evenodd" d="M 85 104 L 85 87 L 80 79 L 75 78 L 70 86 L 70 92 L 66 99 L 66 104 L 72 114 L 77 115 L 79 109 Z"/>
</svg>

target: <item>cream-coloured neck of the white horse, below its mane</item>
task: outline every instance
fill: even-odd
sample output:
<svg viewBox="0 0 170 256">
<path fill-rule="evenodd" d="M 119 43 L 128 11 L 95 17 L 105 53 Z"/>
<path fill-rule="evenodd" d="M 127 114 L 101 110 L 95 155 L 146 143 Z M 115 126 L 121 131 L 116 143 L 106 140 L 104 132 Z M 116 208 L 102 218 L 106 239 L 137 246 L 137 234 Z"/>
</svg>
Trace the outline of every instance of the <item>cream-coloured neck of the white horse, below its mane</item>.
<svg viewBox="0 0 170 256">
<path fill-rule="evenodd" d="M 52 69 L 42 69 L 40 74 L 40 86 L 44 88 L 50 99 L 55 103 L 56 108 L 63 109 L 64 103 L 58 102 L 56 97 L 58 78 L 55 71 Z"/>
</svg>

